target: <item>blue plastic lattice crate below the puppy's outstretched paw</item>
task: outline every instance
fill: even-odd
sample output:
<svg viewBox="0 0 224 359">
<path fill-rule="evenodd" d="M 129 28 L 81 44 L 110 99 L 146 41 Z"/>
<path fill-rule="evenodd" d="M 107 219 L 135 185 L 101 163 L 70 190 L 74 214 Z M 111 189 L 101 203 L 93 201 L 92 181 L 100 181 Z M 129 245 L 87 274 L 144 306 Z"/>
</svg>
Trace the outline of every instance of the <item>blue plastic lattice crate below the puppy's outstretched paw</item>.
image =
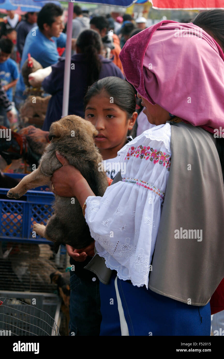
<svg viewBox="0 0 224 359">
<path fill-rule="evenodd" d="M 23 178 L 26 174 L 5 173 L 12 178 Z M 15 242 L 48 243 L 45 238 L 32 237 L 33 224 L 46 224 L 52 216 L 52 202 L 54 194 L 46 191 L 46 186 L 27 191 L 22 200 L 6 197 L 10 188 L 0 188 L 0 239 Z"/>
</svg>

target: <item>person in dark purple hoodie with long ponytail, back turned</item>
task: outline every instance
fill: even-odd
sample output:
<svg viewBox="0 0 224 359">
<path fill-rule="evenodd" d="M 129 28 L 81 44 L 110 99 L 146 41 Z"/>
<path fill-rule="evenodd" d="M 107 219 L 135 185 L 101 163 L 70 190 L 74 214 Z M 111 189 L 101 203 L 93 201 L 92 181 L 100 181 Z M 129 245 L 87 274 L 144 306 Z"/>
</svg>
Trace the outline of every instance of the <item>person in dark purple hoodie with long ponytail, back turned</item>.
<svg viewBox="0 0 224 359">
<path fill-rule="evenodd" d="M 100 35 L 91 29 L 81 32 L 76 43 L 76 54 L 71 57 L 70 89 L 68 115 L 84 117 L 83 98 L 88 86 L 96 80 L 108 76 L 124 79 L 120 69 L 111 59 L 100 55 L 102 41 Z M 65 59 L 61 58 L 52 65 L 52 72 L 42 82 L 44 90 L 52 97 L 42 130 L 49 131 L 50 125 L 58 121 L 62 114 Z"/>
</svg>

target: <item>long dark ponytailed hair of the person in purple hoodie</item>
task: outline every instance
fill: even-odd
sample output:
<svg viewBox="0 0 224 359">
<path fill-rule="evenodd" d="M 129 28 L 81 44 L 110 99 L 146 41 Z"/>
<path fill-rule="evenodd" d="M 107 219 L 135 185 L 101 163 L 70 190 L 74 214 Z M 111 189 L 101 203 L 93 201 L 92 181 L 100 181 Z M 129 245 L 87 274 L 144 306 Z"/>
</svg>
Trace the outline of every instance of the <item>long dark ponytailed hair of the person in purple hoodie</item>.
<svg viewBox="0 0 224 359">
<path fill-rule="evenodd" d="M 99 53 L 102 48 L 100 35 L 94 30 L 84 30 L 77 39 L 78 46 L 87 63 L 87 87 L 99 79 L 101 61 Z"/>
</svg>

